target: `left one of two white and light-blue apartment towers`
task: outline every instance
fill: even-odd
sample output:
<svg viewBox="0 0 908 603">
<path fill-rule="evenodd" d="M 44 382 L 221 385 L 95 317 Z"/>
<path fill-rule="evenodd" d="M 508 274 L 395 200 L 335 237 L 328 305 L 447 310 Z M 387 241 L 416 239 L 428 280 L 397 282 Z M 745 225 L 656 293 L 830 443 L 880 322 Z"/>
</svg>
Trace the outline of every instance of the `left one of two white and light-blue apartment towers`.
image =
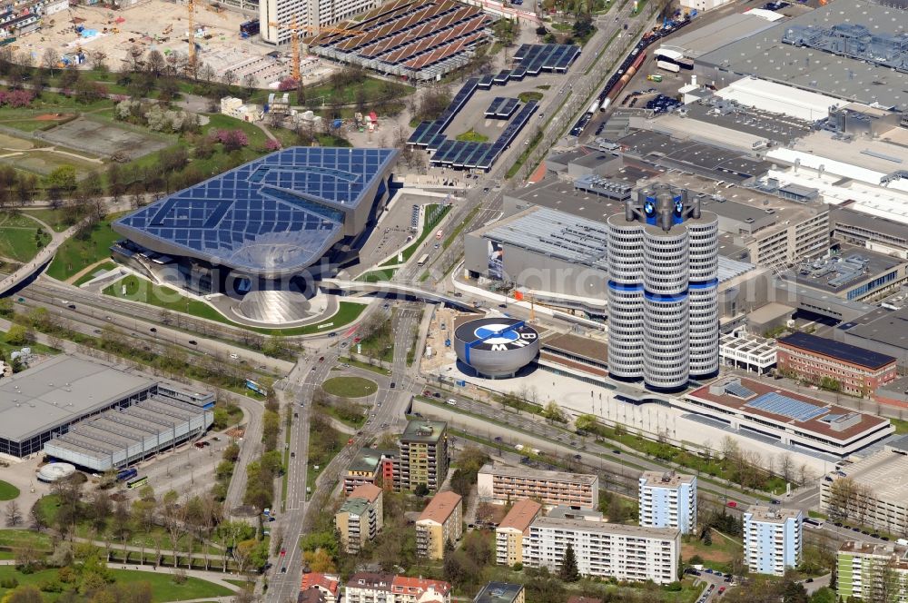
<svg viewBox="0 0 908 603">
<path fill-rule="evenodd" d="M 639 488 L 640 525 L 696 533 L 696 476 L 644 471 Z"/>
</svg>

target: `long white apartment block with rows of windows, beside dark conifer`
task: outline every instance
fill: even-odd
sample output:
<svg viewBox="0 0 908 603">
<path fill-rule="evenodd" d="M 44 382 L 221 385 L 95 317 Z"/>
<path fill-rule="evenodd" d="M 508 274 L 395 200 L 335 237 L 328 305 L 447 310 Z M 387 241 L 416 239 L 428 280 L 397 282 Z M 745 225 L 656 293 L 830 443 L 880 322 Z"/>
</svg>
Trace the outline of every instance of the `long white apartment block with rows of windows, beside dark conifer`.
<svg viewBox="0 0 908 603">
<path fill-rule="evenodd" d="M 681 531 L 643 528 L 585 519 L 538 518 L 523 541 L 523 565 L 561 566 L 568 544 L 584 576 L 646 581 L 656 584 L 677 578 Z"/>
</svg>

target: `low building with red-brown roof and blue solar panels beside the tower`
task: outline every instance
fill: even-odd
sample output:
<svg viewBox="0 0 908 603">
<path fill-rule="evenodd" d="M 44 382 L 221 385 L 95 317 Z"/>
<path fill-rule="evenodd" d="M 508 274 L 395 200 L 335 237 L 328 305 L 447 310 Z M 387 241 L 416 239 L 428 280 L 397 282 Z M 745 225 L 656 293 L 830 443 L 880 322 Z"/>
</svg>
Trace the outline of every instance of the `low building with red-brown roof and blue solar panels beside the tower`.
<svg viewBox="0 0 908 603">
<path fill-rule="evenodd" d="M 743 434 L 841 458 L 895 430 L 888 419 L 784 390 L 772 381 L 743 377 L 715 381 L 672 404 Z"/>
</svg>

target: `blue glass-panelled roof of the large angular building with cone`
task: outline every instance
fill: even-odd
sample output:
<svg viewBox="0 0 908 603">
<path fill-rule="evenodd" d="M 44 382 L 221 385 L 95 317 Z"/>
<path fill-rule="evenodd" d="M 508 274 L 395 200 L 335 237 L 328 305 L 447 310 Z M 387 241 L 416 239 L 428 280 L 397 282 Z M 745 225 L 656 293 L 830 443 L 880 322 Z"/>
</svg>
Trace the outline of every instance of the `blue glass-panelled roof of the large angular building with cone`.
<svg viewBox="0 0 908 603">
<path fill-rule="evenodd" d="M 396 155 L 291 147 L 164 197 L 114 230 L 154 251 L 251 272 L 301 271 L 343 237 L 347 213 L 374 203 L 368 193 Z"/>
</svg>

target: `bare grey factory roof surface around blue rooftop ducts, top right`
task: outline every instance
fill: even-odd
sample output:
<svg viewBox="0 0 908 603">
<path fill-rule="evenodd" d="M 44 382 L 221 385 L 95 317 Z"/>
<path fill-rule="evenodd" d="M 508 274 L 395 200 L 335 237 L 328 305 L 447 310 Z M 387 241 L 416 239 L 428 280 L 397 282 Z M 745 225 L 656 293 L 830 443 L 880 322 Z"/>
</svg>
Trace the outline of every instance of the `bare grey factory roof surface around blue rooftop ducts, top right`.
<svg viewBox="0 0 908 603">
<path fill-rule="evenodd" d="M 908 111 L 908 73 L 819 49 L 785 44 L 793 25 L 829 29 L 834 25 L 866 25 L 874 33 L 896 34 L 904 24 L 902 10 L 864 0 L 839 0 L 780 22 L 757 35 L 725 44 L 696 58 L 705 84 L 724 87 L 745 75 L 822 92 L 860 103 L 879 103 Z"/>
</svg>

